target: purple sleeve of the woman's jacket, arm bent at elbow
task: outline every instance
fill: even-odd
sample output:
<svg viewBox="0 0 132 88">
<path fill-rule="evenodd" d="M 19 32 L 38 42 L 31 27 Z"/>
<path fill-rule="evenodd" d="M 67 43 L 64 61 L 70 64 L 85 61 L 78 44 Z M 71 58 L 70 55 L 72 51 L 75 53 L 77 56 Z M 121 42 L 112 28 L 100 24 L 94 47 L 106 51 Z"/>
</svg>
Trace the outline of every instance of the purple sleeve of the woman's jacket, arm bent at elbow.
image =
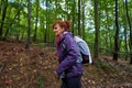
<svg viewBox="0 0 132 88">
<path fill-rule="evenodd" d="M 65 35 L 65 45 L 67 54 L 56 69 L 58 75 L 75 65 L 78 56 L 77 45 L 72 35 Z"/>
</svg>

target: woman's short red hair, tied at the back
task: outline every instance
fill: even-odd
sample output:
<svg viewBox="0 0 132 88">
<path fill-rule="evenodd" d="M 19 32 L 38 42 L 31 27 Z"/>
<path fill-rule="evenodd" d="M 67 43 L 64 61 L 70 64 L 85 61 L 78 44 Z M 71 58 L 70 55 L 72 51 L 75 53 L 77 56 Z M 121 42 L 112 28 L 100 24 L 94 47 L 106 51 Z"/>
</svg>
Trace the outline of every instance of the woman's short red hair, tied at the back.
<svg viewBox="0 0 132 88">
<path fill-rule="evenodd" d="M 65 31 L 70 31 L 70 21 L 56 21 L 53 23 L 52 28 L 58 24 L 61 28 L 64 28 Z"/>
</svg>

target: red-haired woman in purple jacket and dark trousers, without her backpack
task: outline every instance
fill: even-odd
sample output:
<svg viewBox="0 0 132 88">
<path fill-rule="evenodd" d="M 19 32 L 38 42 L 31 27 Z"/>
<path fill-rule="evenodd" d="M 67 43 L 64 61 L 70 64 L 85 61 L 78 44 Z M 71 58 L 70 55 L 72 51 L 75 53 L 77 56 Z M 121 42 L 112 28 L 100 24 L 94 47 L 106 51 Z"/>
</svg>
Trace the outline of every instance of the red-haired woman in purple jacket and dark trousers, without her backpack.
<svg viewBox="0 0 132 88">
<path fill-rule="evenodd" d="M 61 88 L 81 88 L 81 63 L 77 63 L 80 53 L 70 32 L 69 21 L 56 21 L 53 32 L 57 36 L 58 67 L 56 73 L 62 78 Z"/>
</svg>

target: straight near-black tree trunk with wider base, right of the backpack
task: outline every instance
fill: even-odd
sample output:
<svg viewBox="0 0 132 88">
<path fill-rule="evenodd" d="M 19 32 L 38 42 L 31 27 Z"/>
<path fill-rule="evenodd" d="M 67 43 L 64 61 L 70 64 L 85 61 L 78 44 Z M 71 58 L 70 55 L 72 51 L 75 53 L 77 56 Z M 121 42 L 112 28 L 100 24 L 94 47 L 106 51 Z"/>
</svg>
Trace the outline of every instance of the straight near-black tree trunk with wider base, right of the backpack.
<svg viewBox="0 0 132 88">
<path fill-rule="evenodd" d="M 116 36 L 113 61 L 118 61 L 118 57 L 119 57 L 119 15 L 118 15 L 118 0 L 116 0 Z"/>
</svg>

